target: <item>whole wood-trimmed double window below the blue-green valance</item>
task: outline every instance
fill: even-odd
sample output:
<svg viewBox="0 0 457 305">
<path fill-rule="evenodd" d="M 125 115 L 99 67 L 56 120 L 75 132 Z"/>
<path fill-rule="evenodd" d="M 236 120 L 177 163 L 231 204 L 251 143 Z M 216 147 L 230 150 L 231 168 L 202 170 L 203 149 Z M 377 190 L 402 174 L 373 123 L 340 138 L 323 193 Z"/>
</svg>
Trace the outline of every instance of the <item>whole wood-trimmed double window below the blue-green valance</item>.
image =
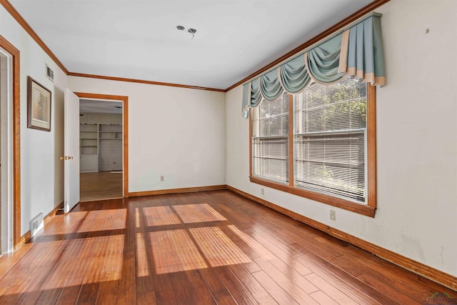
<svg viewBox="0 0 457 305">
<path fill-rule="evenodd" d="M 251 181 L 374 216 L 375 89 L 312 82 L 251 110 Z"/>
</svg>

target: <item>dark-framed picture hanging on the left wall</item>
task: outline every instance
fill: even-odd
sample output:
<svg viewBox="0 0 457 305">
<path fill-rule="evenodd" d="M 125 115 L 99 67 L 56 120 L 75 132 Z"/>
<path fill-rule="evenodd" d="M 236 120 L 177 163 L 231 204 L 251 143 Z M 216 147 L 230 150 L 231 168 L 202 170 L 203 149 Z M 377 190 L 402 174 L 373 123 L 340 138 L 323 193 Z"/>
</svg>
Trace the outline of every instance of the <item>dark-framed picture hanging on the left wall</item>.
<svg viewBox="0 0 457 305">
<path fill-rule="evenodd" d="M 27 127 L 51 131 L 51 91 L 27 77 Z"/>
</svg>

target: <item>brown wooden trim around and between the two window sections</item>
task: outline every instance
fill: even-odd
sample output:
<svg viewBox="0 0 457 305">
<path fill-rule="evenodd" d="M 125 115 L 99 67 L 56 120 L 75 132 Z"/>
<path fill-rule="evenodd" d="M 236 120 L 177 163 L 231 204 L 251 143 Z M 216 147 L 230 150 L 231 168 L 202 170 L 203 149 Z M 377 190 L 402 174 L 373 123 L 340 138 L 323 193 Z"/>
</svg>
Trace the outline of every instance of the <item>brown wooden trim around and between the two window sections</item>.
<svg viewBox="0 0 457 305">
<path fill-rule="evenodd" d="M 288 147 L 289 147 L 289 183 L 279 184 L 268 179 L 262 179 L 253 176 L 252 171 L 252 111 L 249 110 L 249 180 L 255 184 L 271 187 L 279 191 L 285 191 L 289 194 L 294 194 L 314 201 L 319 201 L 323 204 L 336 206 L 340 209 L 353 211 L 369 217 L 374 217 L 376 211 L 376 87 L 371 84 L 366 84 L 367 95 L 367 204 L 357 204 L 356 202 L 341 199 L 338 197 L 319 194 L 306 189 L 298 189 L 293 186 L 293 104 L 292 95 L 289 95 L 289 131 L 288 131 Z"/>
</svg>

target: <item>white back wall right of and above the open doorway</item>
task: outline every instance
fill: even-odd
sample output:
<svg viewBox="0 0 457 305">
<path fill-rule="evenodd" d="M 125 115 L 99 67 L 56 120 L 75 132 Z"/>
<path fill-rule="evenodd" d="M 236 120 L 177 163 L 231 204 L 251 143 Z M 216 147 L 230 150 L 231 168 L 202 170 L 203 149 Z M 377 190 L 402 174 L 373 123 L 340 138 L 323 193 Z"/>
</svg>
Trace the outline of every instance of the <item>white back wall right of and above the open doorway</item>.
<svg viewBox="0 0 457 305">
<path fill-rule="evenodd" d="M 223 92 L 76 76 L 69 88 L 129 96 L 130 192 L 225 184 Z"/>
</svg>

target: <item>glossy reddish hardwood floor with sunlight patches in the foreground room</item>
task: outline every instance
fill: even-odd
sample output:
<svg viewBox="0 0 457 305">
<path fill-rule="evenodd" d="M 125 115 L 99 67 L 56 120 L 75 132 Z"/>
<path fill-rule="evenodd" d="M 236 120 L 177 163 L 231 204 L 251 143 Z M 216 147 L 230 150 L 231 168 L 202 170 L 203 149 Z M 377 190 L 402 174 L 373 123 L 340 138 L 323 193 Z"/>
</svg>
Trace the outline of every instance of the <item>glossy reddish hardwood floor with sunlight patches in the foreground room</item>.
<svg viewBox="0 0 457 305">
<path fill-rule="evenodd" d="M 0 257 L 0 304 L 424 304 L 456 292 L 233 194 L 82 203 Z"/>
</svg>

